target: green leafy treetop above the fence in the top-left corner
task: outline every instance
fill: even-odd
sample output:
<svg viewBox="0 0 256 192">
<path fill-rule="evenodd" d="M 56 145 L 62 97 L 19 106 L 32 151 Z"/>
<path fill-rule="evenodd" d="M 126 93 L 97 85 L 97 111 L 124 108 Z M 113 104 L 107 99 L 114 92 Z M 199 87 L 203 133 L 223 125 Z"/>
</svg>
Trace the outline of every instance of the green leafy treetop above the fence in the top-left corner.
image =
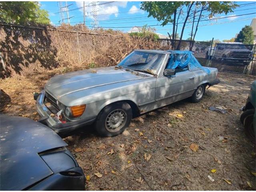
<svg viewBox="0 0 256 192">
<path fill-rule="evenodd" d="M 50 24 L 48 12 L 38 2 L 0 2 L 0 22 L 13 24 Z"/>
</svg>

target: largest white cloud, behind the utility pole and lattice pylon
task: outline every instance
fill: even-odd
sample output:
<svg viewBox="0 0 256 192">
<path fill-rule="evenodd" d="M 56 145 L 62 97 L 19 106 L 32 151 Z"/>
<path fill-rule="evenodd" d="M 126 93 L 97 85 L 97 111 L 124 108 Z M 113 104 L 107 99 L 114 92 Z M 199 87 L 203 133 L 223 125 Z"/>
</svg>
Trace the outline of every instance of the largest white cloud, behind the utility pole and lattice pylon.
<svg viewBox="0 0 256 192">
<path fill-rule="evenodd" d="M 94 6 L 90 6 L 92 5 L 92 1 L 86 1 L 86 2 L 82 2 L 82 1 L 76 1 L 76 5 L 78 7 L 83 7 L 85 3 L 85 15 L 88 16 L 91 19 L 93 19 L 92 17 L 92 11 Z M 104 4 L 106 3 L 106 4 Z M 102 5 L 100 5 L 102 4 Z M 125 8 L 127 6 L 127 2 L 126 1 L 122 1 L 122 2 L 113 2 L 113 3 L 108 3 L 107 1 L 101 1 L 101 2 L 97 2 L 96 3 L 96 10 L 97 10 L 97 18 L 98 20 L 104 20 L 104 19 L 108 19 L 109 16 L 111 14 L 114 14 L 115 17 L 118 16 L 118 12 L 119 12 L 119 7 L 120 8 Z M 80 9 L 81 12 L 83 12 L 83 9 Z"/>
</svg>

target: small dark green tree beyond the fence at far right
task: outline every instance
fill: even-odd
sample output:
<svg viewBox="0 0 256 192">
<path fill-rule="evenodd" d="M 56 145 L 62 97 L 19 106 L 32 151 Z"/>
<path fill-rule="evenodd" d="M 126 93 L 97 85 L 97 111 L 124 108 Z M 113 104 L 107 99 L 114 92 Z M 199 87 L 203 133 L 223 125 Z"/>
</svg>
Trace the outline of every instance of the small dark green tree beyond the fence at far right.
<svg viewBox="0 0 256 192">
<path fill-rule="evenodd" d="M 253 44 L 254 36 L 251 26 L 244 26 L 237 35 L 235 42 L 241 42 L 243 44 Z"/>
</svg>

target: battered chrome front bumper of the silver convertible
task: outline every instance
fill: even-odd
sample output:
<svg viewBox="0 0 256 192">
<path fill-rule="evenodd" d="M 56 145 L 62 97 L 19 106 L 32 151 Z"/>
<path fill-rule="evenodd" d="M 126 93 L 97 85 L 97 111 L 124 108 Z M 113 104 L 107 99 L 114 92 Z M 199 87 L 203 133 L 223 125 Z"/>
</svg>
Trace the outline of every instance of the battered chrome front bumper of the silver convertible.
<svg viewBox="0 0 256 192">
<path fill-rule="evenodd" d="M 70 132 L 81 126 L 90 125 L 96 118 L 90 120 L 76 120 L 62 123 L 56 116 L 51 116 L 52 112 L 44 104 L 45 91 L 43 90 L 36 99 L 36 110 L 41 116 L 38 122 L 52 128 L 56 133 Z"/>
</svg>

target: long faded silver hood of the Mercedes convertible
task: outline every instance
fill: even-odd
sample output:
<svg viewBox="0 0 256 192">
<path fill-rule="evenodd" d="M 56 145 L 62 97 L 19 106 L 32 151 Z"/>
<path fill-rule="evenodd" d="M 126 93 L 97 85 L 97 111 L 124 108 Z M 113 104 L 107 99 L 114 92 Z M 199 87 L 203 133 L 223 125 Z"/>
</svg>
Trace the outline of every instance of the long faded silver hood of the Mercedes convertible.
<svg viewBox="0 0 256 192">
<path fill-rule="evenodd" d="M 150 75 L 145 74 L 145 76 Z M 96 68 L 54 76 L 46 83 L 45 90 L 58 99 L 80 90 L 143 79 L 145 76 L 115 67 Z"/>
</svg>

